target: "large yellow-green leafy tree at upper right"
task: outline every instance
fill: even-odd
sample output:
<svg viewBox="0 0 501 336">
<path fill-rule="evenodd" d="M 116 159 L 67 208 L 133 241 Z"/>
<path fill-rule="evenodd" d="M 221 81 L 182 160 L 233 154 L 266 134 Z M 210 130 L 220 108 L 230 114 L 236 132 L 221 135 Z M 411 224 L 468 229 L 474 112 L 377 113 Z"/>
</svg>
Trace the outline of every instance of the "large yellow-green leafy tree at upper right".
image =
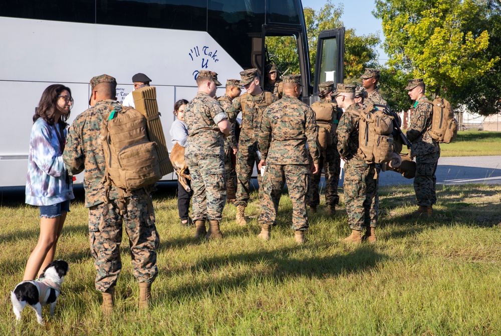
<svg viewBox="0 0 501 336">
<path fill-rule="evenodd" d="M 427 91 L 464 102 L 463 88 L 499 59 L 486 53 L 487 29 L 472 29 L 484 1 L 376 0 L 373 14 L 383 21 L 389 72 L 401 81 L 422 77 Z"/>
</svg>

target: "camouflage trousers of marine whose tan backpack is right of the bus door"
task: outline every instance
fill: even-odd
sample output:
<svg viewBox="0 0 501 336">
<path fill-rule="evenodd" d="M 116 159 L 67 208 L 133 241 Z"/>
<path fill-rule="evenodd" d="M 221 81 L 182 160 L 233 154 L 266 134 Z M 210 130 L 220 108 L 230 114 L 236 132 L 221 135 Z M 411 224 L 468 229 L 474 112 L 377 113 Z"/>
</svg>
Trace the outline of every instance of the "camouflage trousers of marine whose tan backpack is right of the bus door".
<svg viewBox="0 0 501 336">
<path fill-rule="evenodd" d="M 379 177 L 374 179 L 375 164 L 352 158 L 346 161 L 344 171 L 344 196 L 350 228 L 362 231 L 366 226 L 376 227 Z"/>
</svg>

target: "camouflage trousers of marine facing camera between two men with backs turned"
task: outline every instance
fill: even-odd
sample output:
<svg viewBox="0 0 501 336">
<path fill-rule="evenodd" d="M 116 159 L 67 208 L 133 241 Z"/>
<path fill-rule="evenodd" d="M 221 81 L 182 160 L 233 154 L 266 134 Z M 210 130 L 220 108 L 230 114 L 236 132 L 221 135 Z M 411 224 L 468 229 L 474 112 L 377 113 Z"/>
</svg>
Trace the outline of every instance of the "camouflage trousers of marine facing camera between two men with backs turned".
<svg viewBox="0 0 501 336">
<path fill-rule="evenodd" d="M 254 164 L 258 165 L 260 159 L 258 157 L 258 143 L 257 142 L 242 142 L 238 143 L 238 152 L 236 153 L 236 200 L 234 202 L 235 206 L 244 205 L 247 206 L 247 202 L 250 198 L 250 176 L 254 171 Z M 258 183 L 261 186 L 263 182 L 263 177 L 258 172 Z M 261 198 L 261 189 L 259 191 L 259 197 Z"/>
</svg>

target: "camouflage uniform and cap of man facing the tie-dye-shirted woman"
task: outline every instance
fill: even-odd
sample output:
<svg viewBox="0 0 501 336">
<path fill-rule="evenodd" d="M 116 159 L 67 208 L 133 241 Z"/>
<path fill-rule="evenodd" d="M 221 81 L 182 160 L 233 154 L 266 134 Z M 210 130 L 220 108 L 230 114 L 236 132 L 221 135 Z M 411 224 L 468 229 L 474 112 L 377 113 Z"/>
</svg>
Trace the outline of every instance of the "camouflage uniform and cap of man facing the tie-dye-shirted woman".
<svg viewBox="0 0 501 336">
<path fill-rule="evenodd" d="M 104 81 L 116 84 L 115 78 L 101 75 L 92 78 L 91 85 L 94 87 Z M 120 111 L 122 105 L 114 100 L 101 100 L 79 114 L 68 130 L 63 153 L 70 174 L 75 175 L 85 169 L 85 207 L 89 208 L 90 248 L 97 270 L 95 286 L 101 292 L 115 286 L 122 268 L 122 222 L 125 222 L 129 236 L 134 276 L 139 282 L 154 281 L 158 273 L 156 249 L 160 241 L 149 193 L 144 189 L 131 191 L 131 195 L 125 197 L 127 212 L 124 215 L 120 214 L 117 188 L 111 186 L 106 196 L 106 188 L 102 183 L 106 164 L 100 136 L 104 115 L 110 108 Z"/>
</svg>

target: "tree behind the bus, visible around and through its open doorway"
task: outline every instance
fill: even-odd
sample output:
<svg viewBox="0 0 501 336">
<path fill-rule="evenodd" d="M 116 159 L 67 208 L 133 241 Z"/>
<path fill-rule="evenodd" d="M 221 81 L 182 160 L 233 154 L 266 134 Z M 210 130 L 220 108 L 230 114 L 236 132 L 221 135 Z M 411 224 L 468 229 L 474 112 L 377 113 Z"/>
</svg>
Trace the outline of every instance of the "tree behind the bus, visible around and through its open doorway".
<svg viewBox="0 0 501 336">
<path fill-rule="evenodd" d="M 310 7 L 305 7 L 304 13 L 313 78 L 318 34 L 322 30 L 339 28 L 344 25 L 341 21 L 343 5 L 335 6 L 332 4 L 332 0 L 327 0 L 320 10 L 315 11 Z M 345 30 L 345 78 L 358 78 L 364 72 L 364 67 L 376 64 L 378 57 L 376 46 L 379 41 L 379 37 L 375 33 L 357 36 L 355 29 Z M 299 73 L 297 46 L 294 43 L 295 40 L 291 36 L 272 36 L 266 39 L 270 60 L 275 62 L 283 73 Z"/>
</svg>

